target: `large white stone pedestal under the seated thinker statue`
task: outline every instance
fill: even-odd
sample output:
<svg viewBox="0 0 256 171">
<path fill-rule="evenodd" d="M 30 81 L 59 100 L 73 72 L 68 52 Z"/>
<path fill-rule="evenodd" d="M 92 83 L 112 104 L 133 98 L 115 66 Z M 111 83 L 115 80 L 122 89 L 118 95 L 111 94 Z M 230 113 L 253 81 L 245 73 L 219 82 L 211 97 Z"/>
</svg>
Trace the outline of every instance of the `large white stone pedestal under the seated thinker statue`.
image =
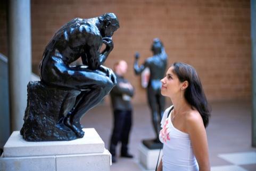
<svg viewBox="0 0 256 171">
<path fill-rule="evenodd" d="M 27 142 L 18 131 L 10 136 L 0 157 L 0 170 L 110 170 L 111 154 L 95 129 L 72 141 Z"/>
</svg>

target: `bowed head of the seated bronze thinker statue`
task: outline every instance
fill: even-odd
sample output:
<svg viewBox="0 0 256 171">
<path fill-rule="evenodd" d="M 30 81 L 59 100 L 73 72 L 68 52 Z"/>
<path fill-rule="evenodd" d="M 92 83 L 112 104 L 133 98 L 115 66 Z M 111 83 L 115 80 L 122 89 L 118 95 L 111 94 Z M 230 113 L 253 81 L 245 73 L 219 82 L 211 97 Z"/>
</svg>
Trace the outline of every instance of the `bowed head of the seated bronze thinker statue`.
<svg viewBox="0 0 256 171">
<path fill-rule="evenodd" d="M 117 16 L 114 13 L 105 13 L 98 17 L 100 22 L 100 32 L 102 37 L 111 37 L 119 28 L 119 21 Z"/>
</svg>

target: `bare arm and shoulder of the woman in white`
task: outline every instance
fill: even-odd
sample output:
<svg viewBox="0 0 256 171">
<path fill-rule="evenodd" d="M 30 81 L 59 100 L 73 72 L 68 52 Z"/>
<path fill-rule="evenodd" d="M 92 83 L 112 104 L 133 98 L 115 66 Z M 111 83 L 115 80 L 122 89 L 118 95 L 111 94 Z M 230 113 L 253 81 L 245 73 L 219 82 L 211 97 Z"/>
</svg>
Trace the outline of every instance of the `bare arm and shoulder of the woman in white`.
<svg viewBox="0 0 256 171">
<path fill-rule="evenodd" d="M 199 112 L 193 111 L 186 116 L 186 130 L 191 139 L 193 152 L 200 171 L 210 171 L 207 134 Z"/>
</svg>

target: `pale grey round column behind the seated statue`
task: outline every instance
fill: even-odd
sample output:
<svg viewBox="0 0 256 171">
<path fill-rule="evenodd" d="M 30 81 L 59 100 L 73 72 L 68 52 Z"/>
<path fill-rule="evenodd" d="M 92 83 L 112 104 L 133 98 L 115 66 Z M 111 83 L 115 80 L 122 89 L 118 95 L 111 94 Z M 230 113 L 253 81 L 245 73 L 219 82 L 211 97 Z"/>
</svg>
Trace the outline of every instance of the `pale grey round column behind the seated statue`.
<svg viewBox="0 0 256 171">
<path fill-rule="evenodd" d="M 9 1 L 9 95 L 11 131 L 20 130 L 31 78 L 30 0 Z"/>
</svg>

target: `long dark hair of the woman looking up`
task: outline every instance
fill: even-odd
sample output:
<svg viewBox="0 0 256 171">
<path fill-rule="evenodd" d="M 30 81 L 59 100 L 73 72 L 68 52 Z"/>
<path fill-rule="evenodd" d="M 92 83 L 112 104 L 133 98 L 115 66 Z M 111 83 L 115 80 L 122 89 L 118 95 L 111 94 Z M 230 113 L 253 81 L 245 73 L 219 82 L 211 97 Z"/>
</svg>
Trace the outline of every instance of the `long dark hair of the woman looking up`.
<svg viewBox="0 0 256 171">
<path fill-rule="evenodd" d="M 204 95 L 202 84 L 193 66 L 185 63 L 174 63 L 174 72 L 180 82 L 188 81 L 188 87 L 185 89 L 184 97 L 187 102 L 195 108 L 203 118 L 204 127 L 208 126 L 210 109 L 207 98 Z"/>
</svg>

